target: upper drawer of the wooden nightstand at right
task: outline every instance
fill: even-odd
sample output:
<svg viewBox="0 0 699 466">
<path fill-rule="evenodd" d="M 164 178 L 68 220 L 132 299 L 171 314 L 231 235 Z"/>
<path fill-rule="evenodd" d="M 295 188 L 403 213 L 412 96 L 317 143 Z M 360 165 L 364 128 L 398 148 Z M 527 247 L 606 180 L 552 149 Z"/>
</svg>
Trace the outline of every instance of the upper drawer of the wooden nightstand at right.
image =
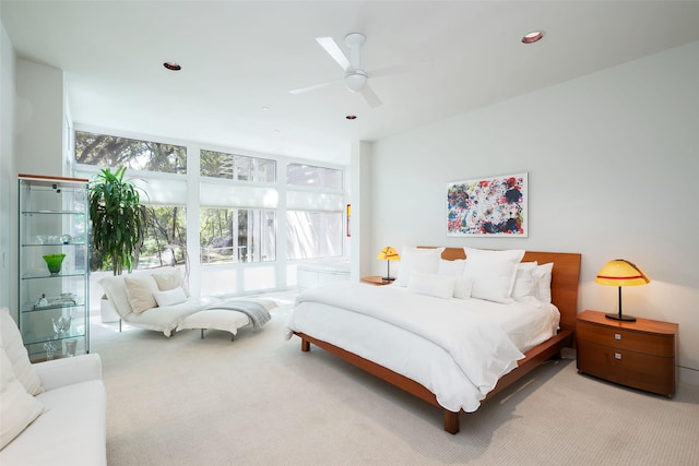
<svg viewBox="0 0 699 466">
<path fill-rule="evenodd" d="M 652 356 L 666 358 L 675 356 L 675 338 L 673 334 L 651 334 L 584 321 L 578 321 L 576 332 L 579 340 L 584 339 L 599 345 Z"/>
</svg>

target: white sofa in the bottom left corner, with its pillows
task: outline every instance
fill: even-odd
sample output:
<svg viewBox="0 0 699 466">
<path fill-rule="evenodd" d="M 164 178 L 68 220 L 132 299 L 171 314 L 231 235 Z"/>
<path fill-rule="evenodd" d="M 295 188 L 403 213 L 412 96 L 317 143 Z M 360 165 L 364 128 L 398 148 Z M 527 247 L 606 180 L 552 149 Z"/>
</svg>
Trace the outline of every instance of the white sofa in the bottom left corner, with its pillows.
<svg viewBox="0 0 699 466">
<path fill-rule="evenodd" d="M 7 308 L 0 308 L 0 465 L 106 465 L 99 355 L 31 365 Z"/>
</svg>

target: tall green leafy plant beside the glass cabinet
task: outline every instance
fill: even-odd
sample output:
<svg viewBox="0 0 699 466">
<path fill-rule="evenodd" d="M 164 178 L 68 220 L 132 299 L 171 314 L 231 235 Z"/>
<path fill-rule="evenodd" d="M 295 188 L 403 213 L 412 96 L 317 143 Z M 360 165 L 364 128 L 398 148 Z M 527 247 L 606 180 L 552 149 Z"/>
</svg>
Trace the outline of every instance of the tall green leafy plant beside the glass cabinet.
<svg viewBox="0 0 699 466">
<path fill-rule="evenodd" d="M 96 259 L 92 265 L 99 268 L 107 261 L 114 275 L 121 275 L 125 268 L 131 272 L 145 232 L 145 206 L 141 204 L 135 184 L 123 178 L 126 171 L 126 167 L 115 171 L 104 168 L 88 186 L 91 237 Z M 105 296 L 102 306 L 103 322 L 119 320 Z"/>
</svg>

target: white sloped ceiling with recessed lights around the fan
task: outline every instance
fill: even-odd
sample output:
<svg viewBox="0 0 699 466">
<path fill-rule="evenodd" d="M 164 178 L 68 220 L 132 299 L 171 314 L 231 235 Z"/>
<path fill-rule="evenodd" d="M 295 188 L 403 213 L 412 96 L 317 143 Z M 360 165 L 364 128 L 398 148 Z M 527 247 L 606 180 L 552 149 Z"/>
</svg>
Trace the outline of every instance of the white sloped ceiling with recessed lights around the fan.
<svg viewBox="0 0 699 466">
<path fill-rule="evenodd" d="M 337 164 L 353 141 L 699 40 L 699 1 L 2 0 L 0 15 L 19 57 L 64 71 L 76 123 Z M 544 39 L 523 45 L 532 29 Z M 315 38 L 346 50 L 352 32 L 369 76 L 431 65 L 369 77 L 377 108 L 342 81 L 288 93 L 341 80 Z"/>
</svg>

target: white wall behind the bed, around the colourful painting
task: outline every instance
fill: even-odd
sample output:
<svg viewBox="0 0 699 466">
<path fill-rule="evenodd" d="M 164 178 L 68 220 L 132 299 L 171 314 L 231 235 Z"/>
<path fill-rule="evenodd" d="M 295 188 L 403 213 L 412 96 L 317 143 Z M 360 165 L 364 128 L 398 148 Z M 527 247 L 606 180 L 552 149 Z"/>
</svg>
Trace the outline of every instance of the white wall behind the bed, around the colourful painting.
<svg viewBox="0 0 699 466">
<path fill-rule="evenodd" d="M 580 311 L 616 311 L 617 289 L 594 276 L 608 260 L 636 262 L 652 283 L 624 289 L 625 313 L 677 322 L 680 380 L 699 384 L 697 83 L 692 43 L 380 140 L 375 177 L 363 180 L 374 200 L 368 247 L 580 252 Z M 448 181 L 520 171 L 529 238 L 446 237 Z M 383 172 L 396 176 L 376 178 Z"/>
</svg>

